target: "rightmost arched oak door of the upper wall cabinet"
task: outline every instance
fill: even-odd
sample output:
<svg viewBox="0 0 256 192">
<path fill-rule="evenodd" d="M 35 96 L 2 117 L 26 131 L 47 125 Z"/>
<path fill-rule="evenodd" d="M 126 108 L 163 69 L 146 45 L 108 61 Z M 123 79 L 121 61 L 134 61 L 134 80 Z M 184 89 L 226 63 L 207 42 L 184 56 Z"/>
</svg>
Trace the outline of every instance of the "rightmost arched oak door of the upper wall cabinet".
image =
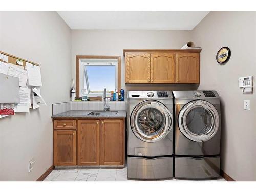
<svg viewBox="0 0 256 192">
<path fill-rule="evenodd" d="M 176 53 L 175 54 L 175 82 L 199 83 L 200 54 Z"/>
</svg>

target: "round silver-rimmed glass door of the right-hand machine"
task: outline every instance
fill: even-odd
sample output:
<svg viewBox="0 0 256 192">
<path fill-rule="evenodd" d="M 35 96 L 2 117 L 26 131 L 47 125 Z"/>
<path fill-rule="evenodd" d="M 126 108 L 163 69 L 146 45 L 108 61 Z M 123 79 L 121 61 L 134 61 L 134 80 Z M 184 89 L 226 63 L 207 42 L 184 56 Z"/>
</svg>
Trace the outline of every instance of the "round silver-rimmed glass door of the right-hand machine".
<svg viewBox="0 0 256 192">
<path fill-rule="evenodd" d="M 219 129 L 219 114 L 207 101 L 192 101 L 181 109 L 178 123 L 181 133 L 188 139 L 208 141 Z"/>
</svg>

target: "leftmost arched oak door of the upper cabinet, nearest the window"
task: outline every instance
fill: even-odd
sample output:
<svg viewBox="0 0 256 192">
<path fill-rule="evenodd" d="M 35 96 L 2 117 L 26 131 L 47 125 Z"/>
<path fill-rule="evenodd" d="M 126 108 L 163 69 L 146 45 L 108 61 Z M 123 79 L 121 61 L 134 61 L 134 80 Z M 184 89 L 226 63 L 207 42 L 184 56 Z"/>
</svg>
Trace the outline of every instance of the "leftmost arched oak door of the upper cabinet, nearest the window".
<svg viewBox="0 0 256 192">
<path fill-rule="evenodd" d="M 150 83 L 150 54 L 126 53 L 125 83 Z"/>
</svg>

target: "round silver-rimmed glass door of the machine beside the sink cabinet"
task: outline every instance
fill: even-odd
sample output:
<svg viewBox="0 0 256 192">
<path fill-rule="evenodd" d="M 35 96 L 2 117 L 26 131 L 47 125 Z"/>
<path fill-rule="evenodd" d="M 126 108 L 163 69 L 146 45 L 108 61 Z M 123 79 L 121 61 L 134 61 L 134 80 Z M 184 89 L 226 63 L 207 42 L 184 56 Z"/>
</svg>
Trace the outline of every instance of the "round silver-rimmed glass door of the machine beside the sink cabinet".
<svg viewBox="0 0 256 192">
<path fill-rule="evenodd" d="M 131 115 L 131 127 L 134 134 L 146 142 L 155 142 L 165 137 L 171 125 L 170 111 L 155 100 L 141 102 Z"/>
</svg>

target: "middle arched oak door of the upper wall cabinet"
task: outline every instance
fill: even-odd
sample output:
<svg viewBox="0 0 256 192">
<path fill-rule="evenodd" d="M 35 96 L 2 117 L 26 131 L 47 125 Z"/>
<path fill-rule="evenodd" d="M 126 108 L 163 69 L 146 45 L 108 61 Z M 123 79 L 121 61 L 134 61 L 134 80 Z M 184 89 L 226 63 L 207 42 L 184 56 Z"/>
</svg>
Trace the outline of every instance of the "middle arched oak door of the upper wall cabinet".
<svg viewBox="0 0 256 192">
<path fill-rule="evenodd" d="M 174 54 L 153 53 L 151 54 L 151 82 L 174 83 Z"/>
</svg>

